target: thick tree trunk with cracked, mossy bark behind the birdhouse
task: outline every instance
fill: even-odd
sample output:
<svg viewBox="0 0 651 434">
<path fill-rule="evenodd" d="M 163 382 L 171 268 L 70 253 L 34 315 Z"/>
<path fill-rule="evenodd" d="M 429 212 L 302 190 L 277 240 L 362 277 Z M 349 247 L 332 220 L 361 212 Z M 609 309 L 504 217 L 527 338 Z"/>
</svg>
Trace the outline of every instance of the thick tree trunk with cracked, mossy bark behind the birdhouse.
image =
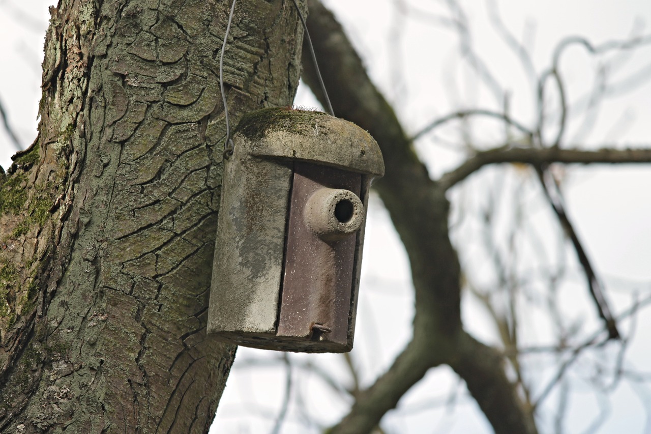
<svg viewBox="0 0 651 434">
<path fill-rule="evenodd" d="M 61 0 L 40 134 L 0 174 L 0 431 L 206 432 L 235 348 L 206 336 L 230 1 Z M 237 5 L 232 121 L 291 104 L 291 3 Z"/>
</svg>

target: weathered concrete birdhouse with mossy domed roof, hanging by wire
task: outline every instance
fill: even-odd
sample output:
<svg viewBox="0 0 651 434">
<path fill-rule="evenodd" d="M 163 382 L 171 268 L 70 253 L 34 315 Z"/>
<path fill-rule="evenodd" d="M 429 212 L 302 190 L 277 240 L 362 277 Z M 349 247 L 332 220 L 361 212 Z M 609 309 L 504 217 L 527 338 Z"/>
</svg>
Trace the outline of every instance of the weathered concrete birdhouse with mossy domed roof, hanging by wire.
<svg viewBox="0 0 651 434">
<path fill-rule="evenodd" d="M 368 189 L 380 148 L 314 111 L 245 115 L 225 160 L 208 332 L 263 349 L 353 346 Z"/>
</svg>

